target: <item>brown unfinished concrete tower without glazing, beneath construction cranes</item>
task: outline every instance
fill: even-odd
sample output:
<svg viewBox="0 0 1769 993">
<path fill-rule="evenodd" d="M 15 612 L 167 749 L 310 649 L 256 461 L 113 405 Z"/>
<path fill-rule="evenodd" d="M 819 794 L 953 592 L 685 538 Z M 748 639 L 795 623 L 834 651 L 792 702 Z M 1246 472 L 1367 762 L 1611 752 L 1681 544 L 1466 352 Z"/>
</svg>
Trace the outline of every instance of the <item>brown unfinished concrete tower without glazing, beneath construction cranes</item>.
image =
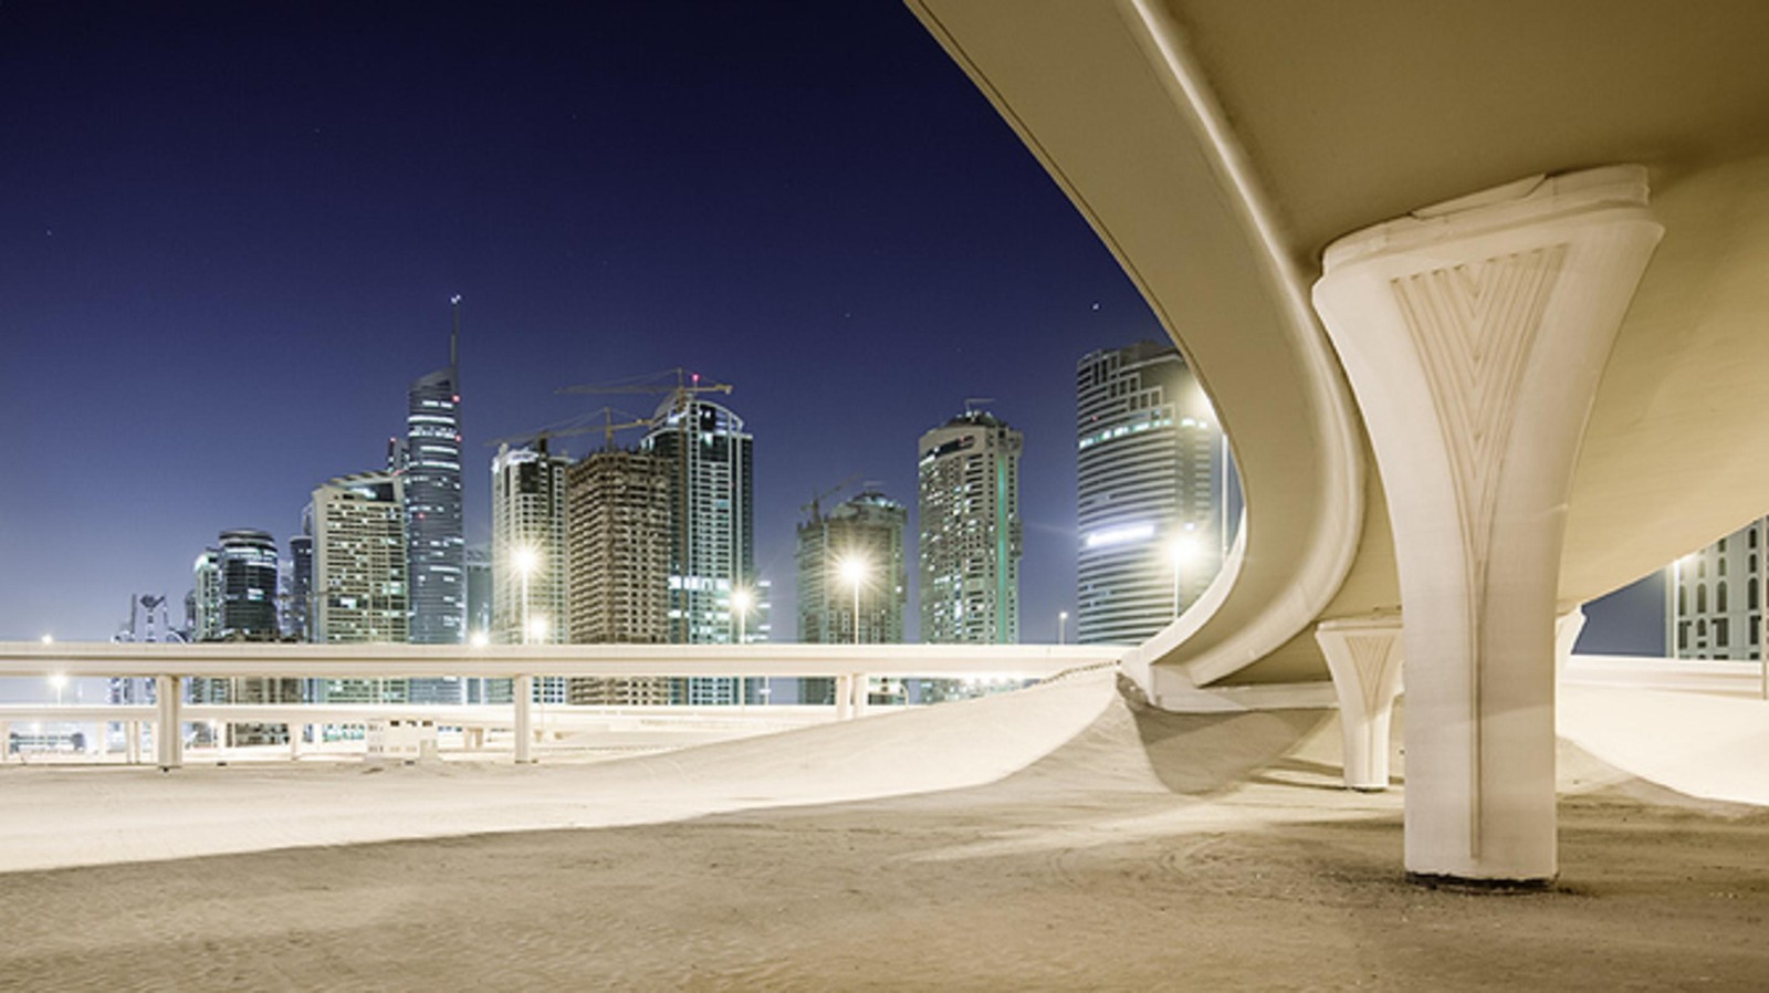
<svg viewBox="0 0 1769 993">
<path fill-rule="evenodd" d="M 669 464 L 642 451 L 596 451 L 566 469 L 570 639 L 669 641 Z M 669 703 L 665 678 L 575 678 L 571 703 Z"/>
</svg>

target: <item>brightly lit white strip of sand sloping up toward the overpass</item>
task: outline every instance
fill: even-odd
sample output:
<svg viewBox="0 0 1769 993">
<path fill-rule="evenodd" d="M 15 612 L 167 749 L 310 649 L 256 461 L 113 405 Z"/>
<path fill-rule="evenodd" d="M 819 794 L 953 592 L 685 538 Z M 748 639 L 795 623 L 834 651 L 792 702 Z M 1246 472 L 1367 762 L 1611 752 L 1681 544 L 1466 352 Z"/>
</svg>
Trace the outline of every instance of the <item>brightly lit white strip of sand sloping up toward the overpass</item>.
<svg viewBox="0 0 1769 993">
<path fill-rule="evenodd" d="M 0 873 L 670 823 L 1005 779 L 1116 704 L 1116 669 L 601 763 L 0 768 Z"/>
</svg>

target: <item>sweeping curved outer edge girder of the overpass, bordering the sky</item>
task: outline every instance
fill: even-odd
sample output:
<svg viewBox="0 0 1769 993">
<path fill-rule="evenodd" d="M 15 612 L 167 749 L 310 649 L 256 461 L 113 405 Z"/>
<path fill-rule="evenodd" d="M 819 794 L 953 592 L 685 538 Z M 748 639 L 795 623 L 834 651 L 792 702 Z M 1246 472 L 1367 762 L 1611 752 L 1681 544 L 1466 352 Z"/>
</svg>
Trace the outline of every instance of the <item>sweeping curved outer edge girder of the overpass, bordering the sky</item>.
<svg viewBox="0 0 1769 993">
<path fill-rule="evenodd" d="M 1321 678 L 1309 632 L 1359 552 L 1367 443 L 1309 280 L 1261 212 L 1171 25 L 1141 4 L 911 7 L 1123 264 L 1229 434 L 1247 508 L 1237 545 L 1127 671 L 1157 704 L 1164 680 L 1180 694 L 1254 664 L 1263 681 Z M 1385 543 L 1385 526 L 1376 533 Z M 1398 600 L 1392 582 L 1385 597 Z"/>
</svg>

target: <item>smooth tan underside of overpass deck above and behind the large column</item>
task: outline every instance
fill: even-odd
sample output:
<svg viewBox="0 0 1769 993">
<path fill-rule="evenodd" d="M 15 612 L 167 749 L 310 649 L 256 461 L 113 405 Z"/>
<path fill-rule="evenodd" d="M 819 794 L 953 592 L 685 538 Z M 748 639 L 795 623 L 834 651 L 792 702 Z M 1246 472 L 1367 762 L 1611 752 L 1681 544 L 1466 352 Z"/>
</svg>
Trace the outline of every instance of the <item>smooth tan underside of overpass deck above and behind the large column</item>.
<svg viewBox="0 0 1769 993">
<path fill-rule="evenodd" d="M 1334 239 L 1428 204 L 1532 173 L 1647 166 L 1666 235 L 1585 432 L 1562 609 L 1769 508 L 1758 455 L 1769 444 L 1758 398 L 1769 377 L 1769 5 L 1712 0 L 1700 16 L 1656 0 L 1164 7 L 1302 269 L 1318 271 Z M 1353 577 L 1364 568 L 1360 552 Z"/>
</svg>

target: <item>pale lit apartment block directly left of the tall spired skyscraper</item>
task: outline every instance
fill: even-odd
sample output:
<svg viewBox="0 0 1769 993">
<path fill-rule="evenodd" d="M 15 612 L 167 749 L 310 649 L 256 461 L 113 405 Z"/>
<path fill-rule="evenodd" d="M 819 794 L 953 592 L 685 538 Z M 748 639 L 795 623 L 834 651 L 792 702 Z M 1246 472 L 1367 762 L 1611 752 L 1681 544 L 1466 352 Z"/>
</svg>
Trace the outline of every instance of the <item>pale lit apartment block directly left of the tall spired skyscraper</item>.
<svg viewBox="0 0 1769 993">
<path fill-rule="evenodd" d="M 405 478 L 340 476 L 313 490 L 313 641 L 409 641 Z M 324 680 L 320 703 L 403 703 L 405 680 Z"/>
</svg>

